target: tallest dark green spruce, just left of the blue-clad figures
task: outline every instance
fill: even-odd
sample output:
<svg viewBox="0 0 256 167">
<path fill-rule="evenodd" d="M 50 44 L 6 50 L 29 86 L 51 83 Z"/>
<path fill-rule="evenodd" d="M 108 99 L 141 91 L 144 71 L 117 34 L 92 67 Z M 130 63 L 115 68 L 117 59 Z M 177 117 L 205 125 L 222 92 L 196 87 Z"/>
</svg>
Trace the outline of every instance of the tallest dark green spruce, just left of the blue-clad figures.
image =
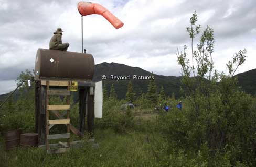
<svg viewBox="0 0 256 167">
<path fill-rule="evenodd" d="M 154 77 L 154 74 L 151 74 L 152 77 Z M 147 99 L 151 102 L 152 105 L 156 105 L 158 102 L 158 94 L 157 94 L 157 86 L 155 82 L 155 78 L 151 79 L 148 83 L 147 87 Z"/>
</svg>

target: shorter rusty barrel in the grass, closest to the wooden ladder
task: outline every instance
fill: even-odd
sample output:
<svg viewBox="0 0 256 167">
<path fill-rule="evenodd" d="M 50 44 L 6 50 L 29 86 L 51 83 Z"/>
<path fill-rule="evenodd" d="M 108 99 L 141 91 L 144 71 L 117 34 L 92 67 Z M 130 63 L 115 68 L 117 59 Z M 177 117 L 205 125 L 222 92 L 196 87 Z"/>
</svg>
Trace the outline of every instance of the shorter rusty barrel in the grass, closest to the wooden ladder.
<svg viewBox="0 0 256 167">
<path fill-rule="evenodd" d="M 37 133 L 26 133 L 20 135 L 20 146 L 37 146 Z"/>
</svg>

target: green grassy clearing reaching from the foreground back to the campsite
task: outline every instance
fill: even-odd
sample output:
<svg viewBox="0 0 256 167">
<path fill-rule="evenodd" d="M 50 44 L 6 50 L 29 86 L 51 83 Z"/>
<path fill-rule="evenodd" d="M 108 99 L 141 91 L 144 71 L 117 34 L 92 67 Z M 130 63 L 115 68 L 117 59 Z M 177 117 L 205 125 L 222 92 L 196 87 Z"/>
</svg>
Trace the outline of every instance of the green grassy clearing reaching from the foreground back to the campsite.
<svg viewBox="0 0 256 167">
<path fill-rule="evenodd" d="M 76 120 L 77 113 L 73 114 Z M 185 144 L 194 138 L 184 138 L 187 127 L 184 114 L 185 111 L 178 109 L 157 113 L 153 109 L 121 111 L 112 107 L 106 110 L 104 118 L 95 118 L 94 142 L 88 142 L 85 135 L 80 147 L 71 147 L 62 154 L 47 154 L 45 149 L 37 147 L 4 151 L 0 136 L 0 166 L 253 166 L 243 159 L 233 160 L 230 151 L 217 150 L 212 156 L 207 143 L 198 150 L 192 147 L 194 142 L 187 147 Z M 30 122 L 28 129 L 33 129 L 33 121 Z M 55 131 L 60 133 L 58 130 L 63 129 L 66 127 Z M 78 137 L 71 134 L 71 139 Z"/>
</svg>

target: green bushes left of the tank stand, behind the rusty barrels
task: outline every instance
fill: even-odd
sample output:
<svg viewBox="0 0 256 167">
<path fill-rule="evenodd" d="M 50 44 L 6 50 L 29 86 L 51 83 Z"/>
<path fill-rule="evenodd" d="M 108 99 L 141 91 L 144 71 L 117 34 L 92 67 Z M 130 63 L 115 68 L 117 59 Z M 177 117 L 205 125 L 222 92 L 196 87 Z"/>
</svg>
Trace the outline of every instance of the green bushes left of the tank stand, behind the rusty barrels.
<svg viewBox="0 0 256 167">
<path fill-rule="evenodd" d="M 33 73 L 26 70 L 22 71 L 16 80 L 17 85 L 23 81 L 31 79 Z M 23 132 L 33 132 L 35 124 L 35 84 L 31 83 L 29 88 L 27 82 L 24 82 L 19 88 L 19 97 L 15 101 L 11 97 L 1 110 L 0 131 L 23 129 Z"/>
</svg>

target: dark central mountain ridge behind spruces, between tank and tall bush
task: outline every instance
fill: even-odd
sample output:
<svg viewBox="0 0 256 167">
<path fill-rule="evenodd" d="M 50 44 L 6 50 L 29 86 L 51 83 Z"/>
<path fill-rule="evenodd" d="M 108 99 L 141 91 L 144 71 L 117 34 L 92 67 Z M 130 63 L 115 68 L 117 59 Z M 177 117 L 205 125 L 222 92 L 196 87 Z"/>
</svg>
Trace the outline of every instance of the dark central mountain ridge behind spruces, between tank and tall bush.
<svg viewBox="0 0 256 167">
<path fill-rule="evenodd" d="M 125 94 L 127 91 L 127 84 L 131 80 L 133 83 L 134 90 L 136 92 L 139 92 L 140 89 L 142 92 L 147 92 L 147 85 L 150 80 L 138 80 L 133 79 L 133 75 L 135 76 L 151 76 L 151 73 L 149 71 L 146 71 L 144 69 L 141 69 L 139 67 L 131 67 L 127 66 L 125 64 L 118 64 L 118 63 L 101 63 L 97 64 L 95 66 L 95 74 L 93 81 L 99 81 L 102 80 L 102 76 L 105 75 L 107 77 L 106 80 L 104 80 L 104 84 L 106 85 L 106 88 L 108 92 L 110 91 L 111 85 L 114 85 L 114 88 L 118 94 L 119 99 L 125 98 Z M 130 80 L 111 80 L 110 76 L 130 76 Z M 154 79 L 156 81 L 156 84 L 158 88 L 161 86 L 164 87 L 165 94 L 167 96 L 172 96 L 172 93 L 175 93 L 175 96 L 179 96 L 179 90 L 180 90 L 180 78 L 181 77 L 175 77 L 175 76 L 162 76 L 162 75 L 155 75 Z"/>
</svg>

